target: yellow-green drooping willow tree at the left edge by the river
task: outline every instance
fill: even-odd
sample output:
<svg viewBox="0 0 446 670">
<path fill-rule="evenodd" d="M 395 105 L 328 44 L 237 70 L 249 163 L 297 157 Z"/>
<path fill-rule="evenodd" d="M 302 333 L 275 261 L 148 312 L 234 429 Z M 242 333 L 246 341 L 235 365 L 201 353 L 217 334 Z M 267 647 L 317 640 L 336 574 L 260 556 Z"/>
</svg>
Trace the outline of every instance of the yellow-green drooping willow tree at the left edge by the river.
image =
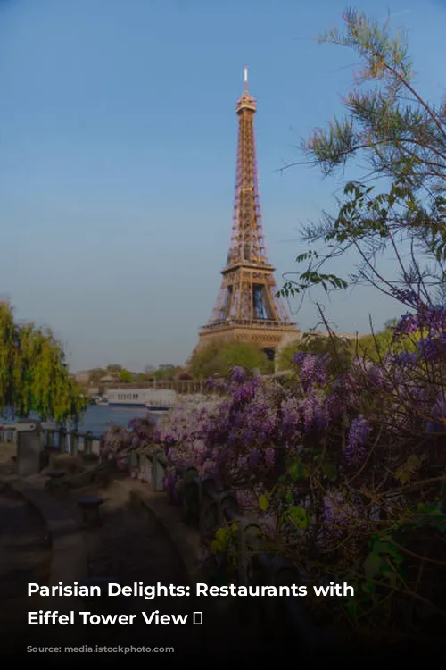
<svg viewBox="0 0 446 670">
<path fill-rule="evenodd" d="M 0 414 L 77 422 L 86 407 L 53 333 L 14 322 L 11 307 L 0 304 Z"/>
</svg>

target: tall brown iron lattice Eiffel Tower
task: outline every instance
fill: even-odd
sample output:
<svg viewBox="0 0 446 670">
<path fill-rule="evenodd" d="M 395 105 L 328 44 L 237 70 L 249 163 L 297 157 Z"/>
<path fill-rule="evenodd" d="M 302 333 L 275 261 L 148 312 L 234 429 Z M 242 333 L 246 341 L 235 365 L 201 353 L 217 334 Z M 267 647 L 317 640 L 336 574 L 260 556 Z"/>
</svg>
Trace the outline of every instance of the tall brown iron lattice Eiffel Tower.
<svg viewBox="0 0 446 670">
<path fill-rule="evenodd" d="M 248 93 L 244 68 L 244 93 L 236 106 L 238 116 L 237 169 L 232 236 L 219 297 L 210 321 L 199 333 L 199 347 L 211 339 L 255 342 L 269 358 L 284 340 L 299 330 L 290 322 L 277 299 L 275 268 L 269 264 L 260 211 L 260 193 L 254 138 L 257 105 Z M 294 336 L 294 337 L 293 337 Z"/>
</svg>

